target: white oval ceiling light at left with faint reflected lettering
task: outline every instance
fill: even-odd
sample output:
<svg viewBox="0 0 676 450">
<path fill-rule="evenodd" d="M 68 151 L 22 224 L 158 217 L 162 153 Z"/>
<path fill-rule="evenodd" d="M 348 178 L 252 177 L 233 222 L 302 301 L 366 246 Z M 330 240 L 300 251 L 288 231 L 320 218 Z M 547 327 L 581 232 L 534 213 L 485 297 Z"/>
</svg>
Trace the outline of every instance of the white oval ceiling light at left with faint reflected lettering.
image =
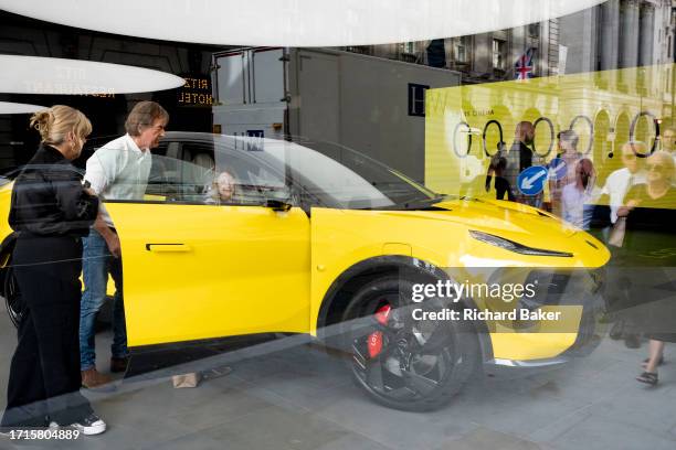
<svg viewBox="0 0 676 450">
<path fill-rule="evenodd" d="M 182 86 L 183 78 L 122 64 L 56 57 L 0 55 L 0 93 L 130 94 Z"/>
</svg>

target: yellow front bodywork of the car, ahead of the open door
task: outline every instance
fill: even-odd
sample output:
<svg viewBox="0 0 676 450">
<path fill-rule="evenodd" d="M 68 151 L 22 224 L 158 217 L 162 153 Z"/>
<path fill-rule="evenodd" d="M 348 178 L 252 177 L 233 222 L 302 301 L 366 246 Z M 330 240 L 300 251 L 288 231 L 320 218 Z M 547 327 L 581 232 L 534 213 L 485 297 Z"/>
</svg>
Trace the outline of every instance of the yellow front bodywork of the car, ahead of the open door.
<svg viewBox="0 0 676 450">
<path fill-rule="evenodd" d="M 503 202 L 506 203 L 506 202 Z M 596 268 L 610 258 L 608 249 L 591 235 L 571 228 L 537 210 L 493 202 L 454 201 L 437 204 L 447 211 L 346 211 L 313 210 L 313 307 L 310 323 L 317 323 L 324 296 L 338 276 L 352 265 L 383 253 L 395 243 L 410 255 L 439 268 L 551 267 Z M 500 227 L 500 229 L 498 229 Z M 473 239 L 468 229 L 493 231 L 500 237 L 531 247 L 569 251 L 573 257 L 516 255 Z M 541 236 L 548 236 L 542 242 Z M 595 246 L 590 245 L 593 244 Z M 385 247 L 387 248 L 387 247 Z M 406 255 L 408 253 L 401 251 Z M 461 280 L 462 281 L 462 280 Z M 537 332 L 496 328 L 490 339 L 496 358 L 539 360 L 568 350 L 577 339 L 582 307 L 547 307 L 560 311 L 561 320 L 545 322 Z M 567 332 L 562 332 L 567 331 Z M 311 333 L 316 333 L 314 328 Z"/>
</svg>

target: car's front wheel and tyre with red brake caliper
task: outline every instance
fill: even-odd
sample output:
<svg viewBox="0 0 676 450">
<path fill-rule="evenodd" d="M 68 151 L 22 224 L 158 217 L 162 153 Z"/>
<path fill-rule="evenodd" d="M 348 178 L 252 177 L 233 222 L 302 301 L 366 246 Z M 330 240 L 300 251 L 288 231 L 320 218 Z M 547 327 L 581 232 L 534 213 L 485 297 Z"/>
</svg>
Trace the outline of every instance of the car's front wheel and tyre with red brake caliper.
<svg viewBox="0 0 676 450">
<path fill-rule="evenodd" d="M 414 303 L 412 287 L 397 277 L 365 285 L 345 309 L 340 339 L 352 378 L 369 397 L 390 408 L 427 411 L 445 406 L 478 372 L 480 347 L 468 322 L 414 320 L 414 309 L 462 303 Z"/>
</svg>

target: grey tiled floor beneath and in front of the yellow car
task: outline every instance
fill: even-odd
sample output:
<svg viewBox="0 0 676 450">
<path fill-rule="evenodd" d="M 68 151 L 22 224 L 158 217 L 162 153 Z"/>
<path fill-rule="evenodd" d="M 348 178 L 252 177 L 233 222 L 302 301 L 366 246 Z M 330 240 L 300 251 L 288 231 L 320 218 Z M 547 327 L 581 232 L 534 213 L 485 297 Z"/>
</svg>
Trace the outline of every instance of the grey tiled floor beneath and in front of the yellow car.
<svg viewBox="0 0 676 450">
<path fill-rule="evenodd" d="M 99 335 L 99 355 L 108 354 L 108 343 L 106 333 Z M 2 312 L 2 392 L 13 346 L 13 329 Z M 198 388 L 173 389 L 163 377 L 133 379 L 112 394 L 87 393 L 109 425 L 99 437 L 0 438 L 0 449 L 673 450 L 676 351 L 667 347 L 657 388 L 634 381 L 644 353 L 645 345 L 627 350 L 604 340 L 561 371 L 484 379 L 442 410 L 412 414 L 371 403 L 339 358 L 292 338 L 191 363 L 186 368 L 234 369 Z"/>
</svg>

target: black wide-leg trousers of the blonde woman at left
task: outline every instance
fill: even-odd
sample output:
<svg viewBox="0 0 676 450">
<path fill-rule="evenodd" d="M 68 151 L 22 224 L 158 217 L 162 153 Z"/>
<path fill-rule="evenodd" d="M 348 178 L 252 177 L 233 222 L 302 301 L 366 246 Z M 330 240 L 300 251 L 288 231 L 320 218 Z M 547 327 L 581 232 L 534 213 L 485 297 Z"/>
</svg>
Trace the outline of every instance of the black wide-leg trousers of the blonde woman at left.
<svg viewBox="0 0 676 450">
<path fill-rule="evenodd" d="M 80 394 L 82 243 L 19 237 L 12 266 L 24 304 L 12 357 L 2 427 L 76 422 L 89 414 Z"/>
</svg>

